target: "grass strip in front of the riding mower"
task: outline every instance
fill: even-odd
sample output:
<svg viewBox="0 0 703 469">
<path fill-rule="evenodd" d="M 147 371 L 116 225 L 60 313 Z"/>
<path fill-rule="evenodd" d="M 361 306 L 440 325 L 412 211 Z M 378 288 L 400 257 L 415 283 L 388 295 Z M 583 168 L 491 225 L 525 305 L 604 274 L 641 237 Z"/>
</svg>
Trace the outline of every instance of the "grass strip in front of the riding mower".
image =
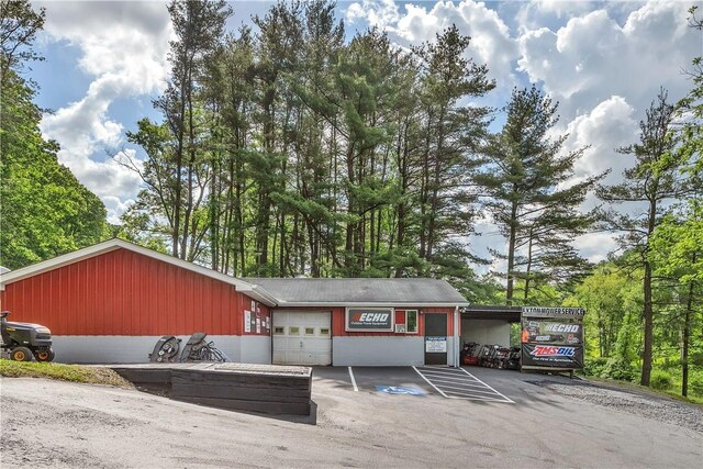
<svg viewBox="0 0 703 469">
<path fill-rule="evenodd" d="M 109 368 L 80 365 L 42 364 L 0 359 L 0 376 L 8 378 L 48 378 L 62 381 L 131 388 L 132 384 Z"/>
</svg>

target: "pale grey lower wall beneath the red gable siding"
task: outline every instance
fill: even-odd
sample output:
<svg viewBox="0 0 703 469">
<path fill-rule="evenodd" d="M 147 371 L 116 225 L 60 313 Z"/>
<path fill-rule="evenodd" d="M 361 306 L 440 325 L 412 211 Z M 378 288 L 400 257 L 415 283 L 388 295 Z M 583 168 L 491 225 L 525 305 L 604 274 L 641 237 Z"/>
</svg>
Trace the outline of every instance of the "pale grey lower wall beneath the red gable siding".
<svg viewBox="0 0 703 469">
<path fill-rule="evenodd" d="M 190 336 L 181 338 L 180 353 Z M 71 335 L 53 336 L 55 361 L 63 364 L 145 364 L 161 336 Z M 207 340 L 232 361 L 242 361 L 242 343 L 236 335 L 209 335 Z M 249 337 L 247 337 L 249 338 Z M 259 338 L 259 337 L 256 337 Z M 268 337 L 264 337 L 268 338 Z M 258 362 L 258 361 L 256 361 Z M 269 362 L 269 361 L 267 361 Z"/>
</svg>

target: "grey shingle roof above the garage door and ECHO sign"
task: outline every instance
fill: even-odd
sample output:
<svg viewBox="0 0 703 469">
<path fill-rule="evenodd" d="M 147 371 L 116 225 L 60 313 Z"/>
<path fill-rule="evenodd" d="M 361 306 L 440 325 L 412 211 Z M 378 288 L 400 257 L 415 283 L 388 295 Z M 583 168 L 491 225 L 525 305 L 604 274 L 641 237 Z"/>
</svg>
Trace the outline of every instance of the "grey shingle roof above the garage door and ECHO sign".
<svg viewBox="0 0 703 469">
<path fill-rule="evenodd" d="M 436 279 L 272 279 L 245 278 L 284 305 L 466 305 L 467 300 Z"/>
</svg>

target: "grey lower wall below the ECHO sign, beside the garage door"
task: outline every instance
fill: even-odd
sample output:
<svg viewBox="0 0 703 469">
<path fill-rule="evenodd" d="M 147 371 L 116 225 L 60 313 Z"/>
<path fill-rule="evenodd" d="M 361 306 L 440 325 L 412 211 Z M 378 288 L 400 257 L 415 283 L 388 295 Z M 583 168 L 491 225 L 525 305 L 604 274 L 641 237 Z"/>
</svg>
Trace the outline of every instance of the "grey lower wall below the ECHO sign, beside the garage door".
<svg viewBox="0 0 703 469">
<path fill-rule="evenodd" d="M 411 366 L 425 362 L 425 338 L 336 336 L 332 338 L 333 366 Z"/>
</svg>

